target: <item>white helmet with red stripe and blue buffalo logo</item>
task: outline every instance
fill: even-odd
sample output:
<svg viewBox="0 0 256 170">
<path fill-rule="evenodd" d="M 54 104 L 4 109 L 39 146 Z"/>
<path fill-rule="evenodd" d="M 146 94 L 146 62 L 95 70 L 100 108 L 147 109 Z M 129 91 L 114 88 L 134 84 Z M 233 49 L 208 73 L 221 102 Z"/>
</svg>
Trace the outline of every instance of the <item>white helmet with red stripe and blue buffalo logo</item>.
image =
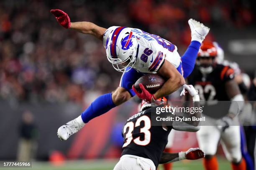
<svg viewBox="0 0 256 170">
<path fill-rule="evenodd" d="M 110 27 L 103 36 L 108 61 L 115 70 L 127 72 L 136 62 L 138 40 L 126 27 Z M 130 69 L 126 69 L 130 67 Z"/>
</svg>

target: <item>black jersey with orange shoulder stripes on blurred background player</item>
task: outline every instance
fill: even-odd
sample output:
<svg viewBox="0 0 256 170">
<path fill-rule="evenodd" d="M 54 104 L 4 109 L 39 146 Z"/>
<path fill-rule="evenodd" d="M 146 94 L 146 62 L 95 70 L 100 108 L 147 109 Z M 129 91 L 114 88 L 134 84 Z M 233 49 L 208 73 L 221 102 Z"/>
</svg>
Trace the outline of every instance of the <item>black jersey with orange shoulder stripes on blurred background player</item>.
<svg viewBox="0 0 256 170">
<path fill-rule="evenodd" d="M 213 102 L 230 100 L 225 82 L 234 78 L 234 70 L 229 66 L 216 64 L 209 74 L 202 74 L 199 67 L 195 66 L 193 72 L 187 78 L 188 83 L 193 85 L 200 96 L 200 100 Z"/>
</svg>

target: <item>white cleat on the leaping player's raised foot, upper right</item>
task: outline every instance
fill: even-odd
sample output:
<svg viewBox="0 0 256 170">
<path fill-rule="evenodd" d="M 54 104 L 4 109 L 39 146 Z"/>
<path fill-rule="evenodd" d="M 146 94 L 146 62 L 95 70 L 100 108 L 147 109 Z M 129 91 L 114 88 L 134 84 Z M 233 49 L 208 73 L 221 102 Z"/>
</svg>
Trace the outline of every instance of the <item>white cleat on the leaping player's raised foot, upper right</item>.
<svg viewBox="0 0 256 170">
<path fill-rule="evenodd" d="M 210 28 L 206 27 L 205 25 L 194 19 L 189 19 L 188 23 L 191 30 L 191 41 L 196 40 L 202 43 L 202 41 L 205 39 L 206 35 L 210 31 Z"/>
</svg>

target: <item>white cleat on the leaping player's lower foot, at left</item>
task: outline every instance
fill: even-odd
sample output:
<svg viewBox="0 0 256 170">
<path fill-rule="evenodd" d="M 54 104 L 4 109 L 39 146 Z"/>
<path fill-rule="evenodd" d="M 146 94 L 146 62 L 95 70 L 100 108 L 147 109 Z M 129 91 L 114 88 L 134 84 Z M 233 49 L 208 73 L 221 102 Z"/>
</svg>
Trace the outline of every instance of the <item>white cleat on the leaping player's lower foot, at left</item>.
<svg viewBox="0 0 256 170">
<path fill-rule="evenodd" d="M 67 140 L 71 135 L 82 129 L 84 125 L 85 123 L 82 121 L 82 117 L 79 116 L 59 127 L 57 135 L 60 140 Z"/>
</svg>

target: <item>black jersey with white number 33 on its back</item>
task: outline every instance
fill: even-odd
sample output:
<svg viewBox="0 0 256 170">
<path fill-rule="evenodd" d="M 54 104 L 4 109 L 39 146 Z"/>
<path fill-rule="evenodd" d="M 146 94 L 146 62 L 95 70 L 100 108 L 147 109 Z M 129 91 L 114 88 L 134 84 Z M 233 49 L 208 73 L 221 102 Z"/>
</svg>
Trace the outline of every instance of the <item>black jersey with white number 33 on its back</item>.
<svg viewBox="0 0 256 170">
<path fill-rule="evenodd" d="M 157 167 L 172 127 L 151 126 L 151 109 L 138 112 L 123 126 L 123 155 L 148 158 Z"/>
</svg>

